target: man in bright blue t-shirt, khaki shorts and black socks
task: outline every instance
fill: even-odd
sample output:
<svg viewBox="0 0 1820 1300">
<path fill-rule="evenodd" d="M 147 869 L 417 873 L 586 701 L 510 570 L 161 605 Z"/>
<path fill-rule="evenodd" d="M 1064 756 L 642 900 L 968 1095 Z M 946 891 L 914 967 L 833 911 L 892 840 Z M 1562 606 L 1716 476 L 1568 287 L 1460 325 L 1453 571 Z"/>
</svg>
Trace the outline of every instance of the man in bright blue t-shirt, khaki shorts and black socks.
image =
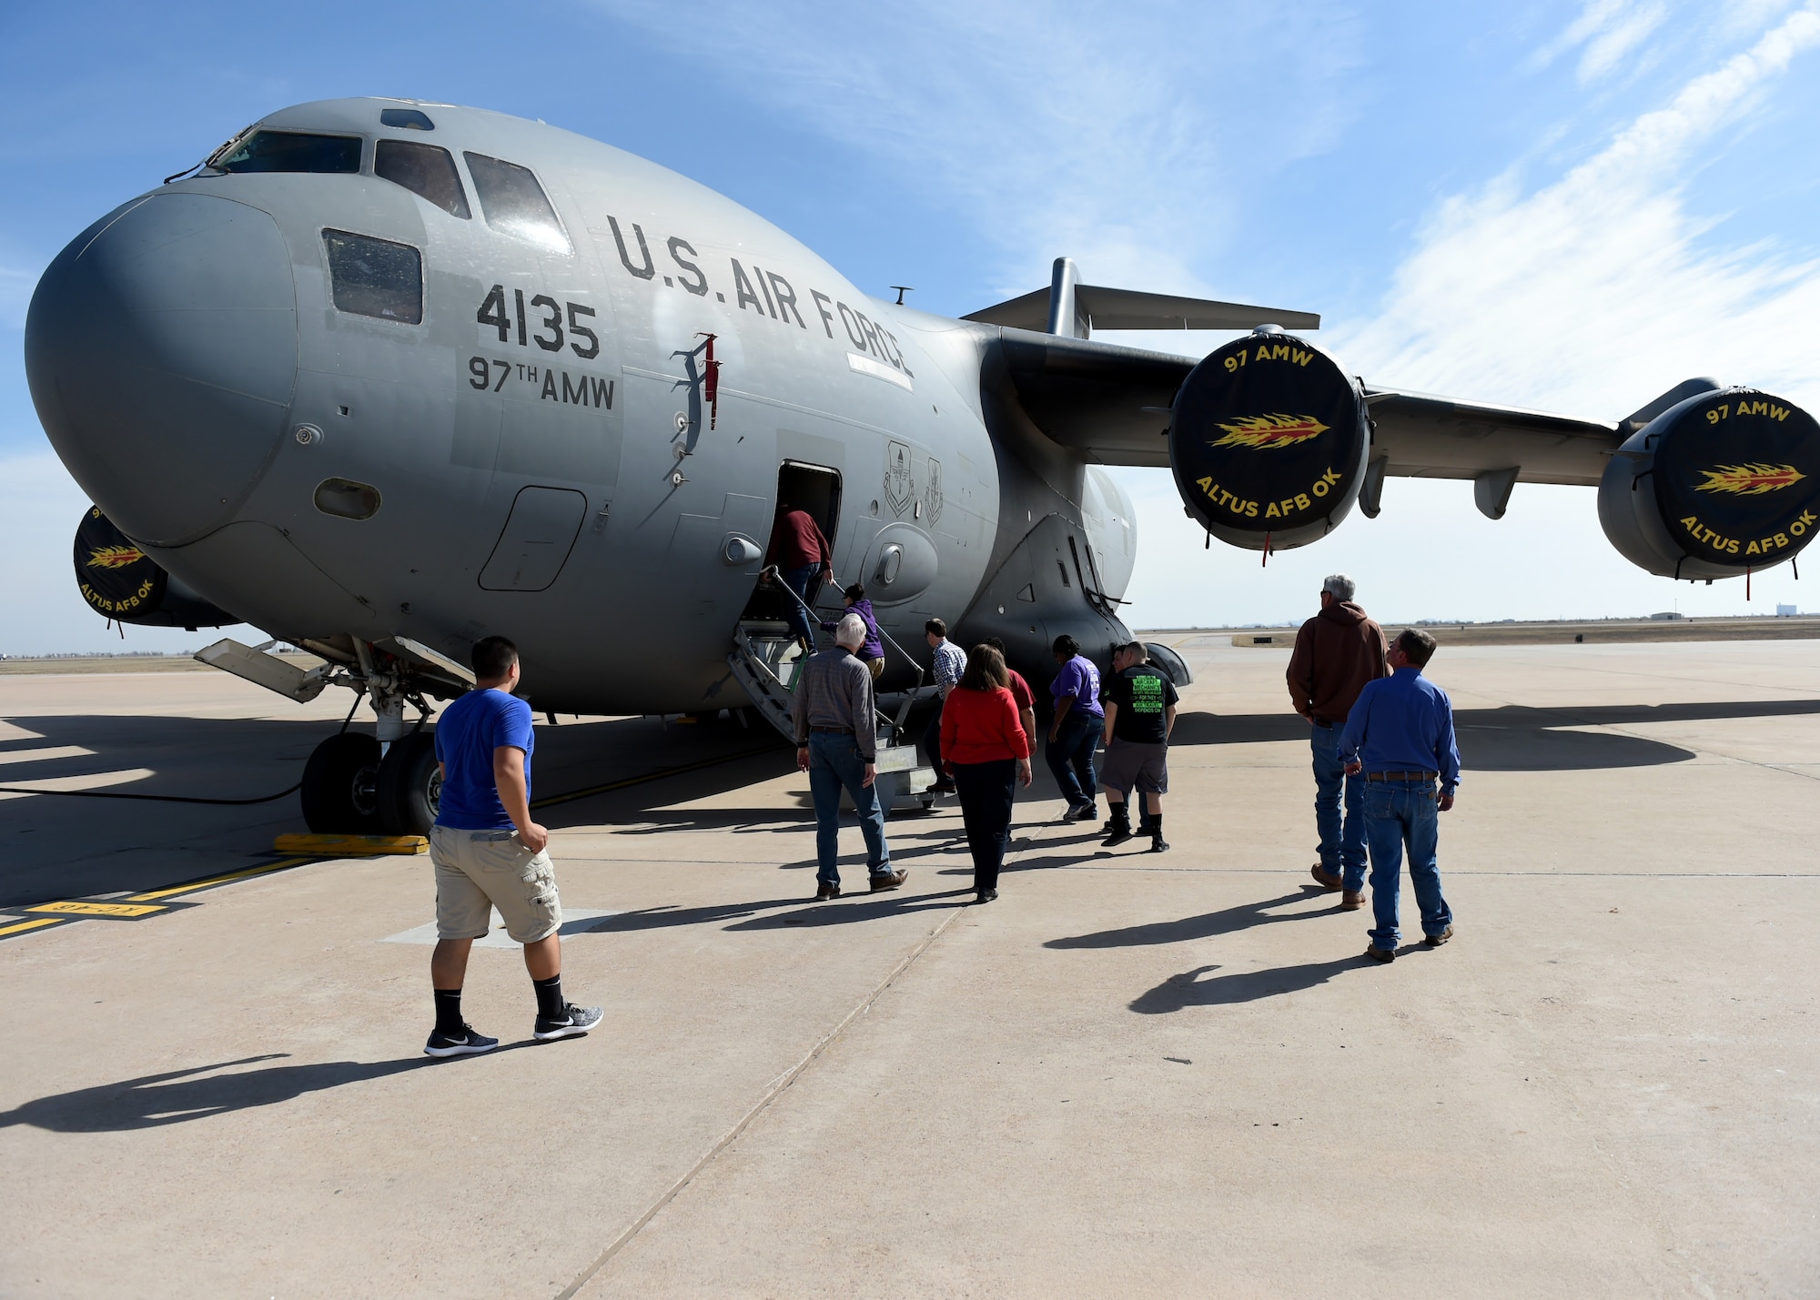
<svg viewBox="0 0 1820 1300">
<path fill-rule="evenodd" d="M 524 969 L 537 992 L 531 1034 L 539 1041 L 573 1038 L 601 1021 L 599 1007 L 562 998 L 562 901 L 550 832 L 531 821 L 531 706 L 511 694 L 519 648 L 506 637 L 484 637 L 471 663 L 473 690 L 437 719 L 442 794 L 430 828 L 437 872 L 437 949 L 430 956 L 437 1027 L 424 1045 L 430 1056 L 499 1047 L 460 1014 L 468 950 L 486 938 L 495 907 L 506 934 L 524 945 Z"/>
</svg>

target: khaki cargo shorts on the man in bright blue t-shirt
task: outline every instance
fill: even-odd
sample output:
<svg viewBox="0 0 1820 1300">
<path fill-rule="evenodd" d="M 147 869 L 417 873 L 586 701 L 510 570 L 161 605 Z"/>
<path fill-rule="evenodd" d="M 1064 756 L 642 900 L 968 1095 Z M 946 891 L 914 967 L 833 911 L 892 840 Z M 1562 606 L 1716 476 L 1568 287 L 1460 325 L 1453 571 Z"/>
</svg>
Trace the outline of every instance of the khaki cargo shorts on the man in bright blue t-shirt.
<svg viewBox="0 0 1820 1300">
<path fill-rule="evenodd" d="M 562 929 L 562 899 L 550 852 L 533 854 L 515 830 L 430 828 L 437 868 L 437 938 L 486 938 L 491 909 L 515 943 L 537 943 Z"/>
</svg>

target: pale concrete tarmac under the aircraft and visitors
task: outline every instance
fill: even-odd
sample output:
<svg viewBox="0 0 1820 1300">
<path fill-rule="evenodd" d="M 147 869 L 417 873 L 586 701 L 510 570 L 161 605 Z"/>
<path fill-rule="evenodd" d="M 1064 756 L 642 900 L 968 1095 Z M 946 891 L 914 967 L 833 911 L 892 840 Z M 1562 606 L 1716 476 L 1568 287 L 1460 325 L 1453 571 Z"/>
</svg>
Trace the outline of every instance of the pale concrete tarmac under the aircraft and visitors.
<svg viewBox="0 0 1820 1300">
<path fill-rule="evenodd" d="M 988 907 L 952 805 L 814 905 L 786 748 L 541 726 L 541 796 L 688 770 L 541 814 L 601 1029 L 531 1047 L 482 949 L 508 1049 L 446 1063 L 384 941 L 426 858 L 69 919 L 27 909 L 271 865 L 295 797 L 0 796 L 0 932 L 58 918 L 0 938 L 0 1295 L 1820 1293 L 1820 643 L 1443 645 L 1458 938 L 1389 967 L 1307 876 L 1287 652 L 1185 652 L 1172 852 L 1039 772 Z M 198 674 L 0 717 L 0 785 L 246 797 L 339 725 Z"/>
</svg>

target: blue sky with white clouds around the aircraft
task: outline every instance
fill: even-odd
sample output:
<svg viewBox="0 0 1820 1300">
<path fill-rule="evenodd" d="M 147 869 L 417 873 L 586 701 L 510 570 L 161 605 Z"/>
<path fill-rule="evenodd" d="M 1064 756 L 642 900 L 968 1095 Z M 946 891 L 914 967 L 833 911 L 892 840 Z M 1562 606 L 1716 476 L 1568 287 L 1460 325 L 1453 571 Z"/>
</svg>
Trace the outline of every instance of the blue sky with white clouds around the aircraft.
<svg viewBox="0 0 1820 1300">
<path fill-rule="evenodd" d="M 1820 2 L 1820 0 L 1816 0 Z M 20 361 L 40 269 L 120 200 L 280 106 L 539 117 L 753 208 L 863 288 L 963 313 L 1090 282 L 1323 313 L 1374 382 L 1620 417 L 1696 373 L 1820 408 L 1820 13 L 1789 0 L 1298 5 L 0 7 L 0 652 L 86 650 L 84 504 Z M 1199 355 L 1221 335 L 1108 335 Z M 1299 617 L 1343 568 L 1387 619 L 1820 610 L 1784 566 L 1673 584 L 1591 490 L 1392 481 L 1376 521 L 1214 546 L 1167 472 L 1134 623 Z M 1820 564 L 1820 561 L 1816 561 Z M 1820 581 L 1820 574 L 1811 581 Z M 127 630 L 127 646 L 195 635 Z"/>
</svg>

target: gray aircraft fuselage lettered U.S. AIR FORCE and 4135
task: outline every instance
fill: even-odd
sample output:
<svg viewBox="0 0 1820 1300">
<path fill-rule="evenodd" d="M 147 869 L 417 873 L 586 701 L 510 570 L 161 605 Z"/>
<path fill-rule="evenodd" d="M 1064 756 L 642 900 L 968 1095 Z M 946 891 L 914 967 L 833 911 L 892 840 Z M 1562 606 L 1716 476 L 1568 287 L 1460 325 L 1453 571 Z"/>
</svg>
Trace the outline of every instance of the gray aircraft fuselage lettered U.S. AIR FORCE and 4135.
<svg viewBox="0 0 1820 1300">
<path fill-rule="evenodd" d="M 1128 637 L 1101 597 L 1132 572 L 1130 503 L 994 408 L 997 328 L 870 297 L 606 144 L 433 104 L 410 106 L 430 131 L 382 126 L 400 106 L 275 113 L 258 126 L 359 138 L 359 171 L 166 184 L 38 286 L 46 430 L 182 583 L 293 641 L 404 635 L 466 661 L 510 635 L 539 708 L 739 705 L 726 654 L 792 466 L 821 499 L 837 475 L 835 577 L 908 650 L 930 615 L 1025 665 L 1063 632 L 1097 657 Z M 464 193 L 375 175 L 380 140 L 446 149 Z M 530 169 L 557 228 L 484 213 L 488 160 Z M 420 320 L 373 306 L 399 249 L 420 257 Z M 331 280 L 337 255 L 377 297 Z M 892 657 L 885 685 L 912 675 Z"/>
</svg>

